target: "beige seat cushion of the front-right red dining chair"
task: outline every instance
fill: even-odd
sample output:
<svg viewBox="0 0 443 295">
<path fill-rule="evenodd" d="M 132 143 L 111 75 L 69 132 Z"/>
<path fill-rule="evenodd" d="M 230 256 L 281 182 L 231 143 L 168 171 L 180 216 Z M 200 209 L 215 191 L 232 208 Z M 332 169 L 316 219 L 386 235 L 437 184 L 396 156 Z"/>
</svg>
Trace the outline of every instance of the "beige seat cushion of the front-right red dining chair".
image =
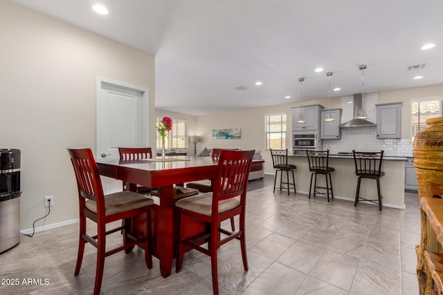
<svg viewBox="0 0 443 295">
<path fill-rule="evenodd" d="M 179 208 L 210 216 L 213 211 L 213 193 L 201 193 L 181 199 L 175 203 Z M 234 209 L 240 205 L 239 197 L 219 202 L 219 213 Z"/>
</svg>

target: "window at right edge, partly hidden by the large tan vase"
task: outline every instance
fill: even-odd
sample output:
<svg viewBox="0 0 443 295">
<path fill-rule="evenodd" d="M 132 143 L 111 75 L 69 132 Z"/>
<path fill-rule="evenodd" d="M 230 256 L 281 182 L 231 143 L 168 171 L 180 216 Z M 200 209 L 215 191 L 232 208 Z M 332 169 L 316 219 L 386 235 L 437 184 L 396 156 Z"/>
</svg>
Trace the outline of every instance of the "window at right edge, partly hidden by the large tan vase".
<svg viewBox="0 0 443 295">
<path fill-rule="evenodd" d="M 411 140 L 415 135 L 427 127 L 426 120 L 432 117 L 443 117 L 443 98 L 420 100 L 411 102 L 410 106 Z"/>
</svg>

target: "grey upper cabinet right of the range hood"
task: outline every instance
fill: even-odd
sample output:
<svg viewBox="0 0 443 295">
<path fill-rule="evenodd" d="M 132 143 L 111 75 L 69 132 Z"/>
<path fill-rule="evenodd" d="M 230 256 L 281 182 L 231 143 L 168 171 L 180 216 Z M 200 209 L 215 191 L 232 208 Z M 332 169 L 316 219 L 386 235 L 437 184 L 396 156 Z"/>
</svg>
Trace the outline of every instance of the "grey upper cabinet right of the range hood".
<svg viewBox="0 0 443 295">
<path fill-rule="evenodd" d="M 377 138 L 401 138 L 401 106 L 403 102 L 376 104 Z"/>
</svg>

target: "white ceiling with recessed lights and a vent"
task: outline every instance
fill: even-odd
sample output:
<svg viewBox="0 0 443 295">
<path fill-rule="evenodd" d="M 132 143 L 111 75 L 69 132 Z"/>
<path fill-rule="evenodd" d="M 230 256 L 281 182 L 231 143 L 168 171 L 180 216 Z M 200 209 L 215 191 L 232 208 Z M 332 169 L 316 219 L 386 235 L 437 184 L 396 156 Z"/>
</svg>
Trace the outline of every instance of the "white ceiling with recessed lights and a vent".
<svg viewBox="0 0 443 295">
<path fill-rule="evenodd" d="M 332 97 L 352 95 L 361 64 L 365 93 L 443 82 L 443 0 L 10 1 L 155 55 L 156 108 L 168 111 L 300 102 L 299 77 L 303 100 L 322 99 L 329 71 Z M 91 10 L 98 2 L 109 15 Z"/>
</svg>

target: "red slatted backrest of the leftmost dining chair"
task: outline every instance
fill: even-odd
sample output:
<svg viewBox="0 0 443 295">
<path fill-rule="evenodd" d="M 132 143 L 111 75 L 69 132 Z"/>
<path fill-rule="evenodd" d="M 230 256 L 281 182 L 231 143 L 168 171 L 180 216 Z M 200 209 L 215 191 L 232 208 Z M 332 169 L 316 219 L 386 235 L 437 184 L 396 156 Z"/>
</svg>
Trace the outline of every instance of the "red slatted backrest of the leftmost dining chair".
<svg viewBox="0 0 443 295">
<path fill-rule="evenodd" d="M 95 200 L 97 202 L 97 212 L 102 211 L 104 213 L 105 200 L 102 182 L 91 149 L 68 149 L 68 153 L 77 180 L 80 210 L 82 210 L 82 204 L 84 205 L 84 199 L 86 198 Z"/>
</svg>

